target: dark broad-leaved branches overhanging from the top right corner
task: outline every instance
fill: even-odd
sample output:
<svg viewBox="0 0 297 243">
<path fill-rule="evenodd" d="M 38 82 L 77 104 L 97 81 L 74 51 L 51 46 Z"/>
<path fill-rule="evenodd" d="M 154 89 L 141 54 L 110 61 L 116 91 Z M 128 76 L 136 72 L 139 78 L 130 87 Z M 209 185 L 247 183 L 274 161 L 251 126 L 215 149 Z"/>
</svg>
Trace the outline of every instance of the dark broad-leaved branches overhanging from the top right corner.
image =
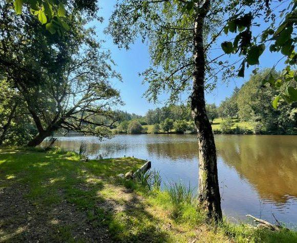
<svg viewBox="0 0 297 243">
<path fill-rule="evenodd" d="M 278 91 L 272 103 L 275 109 L 281 99 L 287 103 L 297 102 L 297 72 L 291 70 L 297 63 L 297 3 L 294 0 L 279 2 L 281 3 L 269 0 L 242 1 L 242 11 L 230 17 L 223 28 L 226 34 L 237 31 L 238 34 L 235 35 L 234 42 L 223 42 L 221 45 L 225 53 L 236 53 L 242 57 L 238 72 L 240 77 L 244 76 L 246 67 L 259 65 L 259 58 L 266 47 L 269 47 L 270 52 L 281 52 L 283 57 L 275 60 L 271 73 L 263 82 Z M 261 26 L 255 22 L 260 19 L 266 24 Z M 256 29 L 257 27 L 260 29 Z M 283 78 L 275 79 L 273 71 L 281 60 L 287 66 L 282 72 Z M 257 69 L 253 72 L 256 73 Z"/>
</svg>

